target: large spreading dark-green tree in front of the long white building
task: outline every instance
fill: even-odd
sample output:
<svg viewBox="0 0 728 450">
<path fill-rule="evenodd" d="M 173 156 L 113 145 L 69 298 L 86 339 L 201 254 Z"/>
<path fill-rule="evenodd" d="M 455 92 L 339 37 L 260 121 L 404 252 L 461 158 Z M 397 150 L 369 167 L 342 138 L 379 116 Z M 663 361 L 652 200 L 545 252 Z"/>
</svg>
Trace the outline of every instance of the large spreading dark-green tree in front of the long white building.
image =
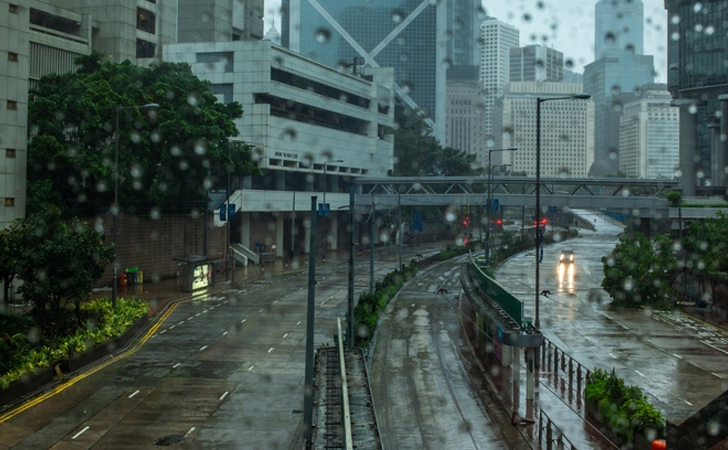
<svg viewBox="0 0 728 450">
<path fill-rule="evenodd" d="M 102 63 L 44 76 L 29 105 L 29 186 L 50 180 L 74 208 L 108 209 L 114 198 L 118 114 L 118 194 L 125 207 L 169 210 L 202 202 L 227 171 L 258 173 L 251 148 L 233 141 L 239 103 L 222 104 L 189 65 Z M 158 108 L 139 108 L 148 104 Z M 223 176 L 225 175 L 225 176 Z"/>
</svg>

